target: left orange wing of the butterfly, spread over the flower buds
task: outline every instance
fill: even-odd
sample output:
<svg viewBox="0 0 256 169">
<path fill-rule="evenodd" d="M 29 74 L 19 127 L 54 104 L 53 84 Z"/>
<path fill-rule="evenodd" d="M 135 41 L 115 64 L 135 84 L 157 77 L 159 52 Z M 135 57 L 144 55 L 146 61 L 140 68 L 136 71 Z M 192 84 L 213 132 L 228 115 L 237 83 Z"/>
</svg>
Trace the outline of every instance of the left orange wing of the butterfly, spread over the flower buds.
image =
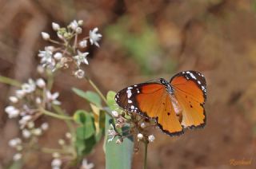
<svg viewBox="0 0 256 169">
<path fill-rule="evenodd" d="M 166 134 L 174 136 L 183 133 L 165 85 L 144 83 L 130 86 L 118 92 L 115 99 L 120 107 L 129 112 L 156 119 L 159 128 Z"/>
</svg>

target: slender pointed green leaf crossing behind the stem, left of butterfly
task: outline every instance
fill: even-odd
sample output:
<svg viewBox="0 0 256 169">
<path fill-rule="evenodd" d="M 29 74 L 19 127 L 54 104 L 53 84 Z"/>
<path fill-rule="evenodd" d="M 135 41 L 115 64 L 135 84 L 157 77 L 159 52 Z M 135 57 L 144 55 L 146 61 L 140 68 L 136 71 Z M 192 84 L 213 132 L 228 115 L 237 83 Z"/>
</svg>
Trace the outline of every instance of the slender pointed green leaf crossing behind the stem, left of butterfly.
<svg viewBox="0 0 256 169">
<path fill-rule="evenodd" d="M 82 91 L 78 88 L 72 88 L 73 92 L 75 92 L 78 96 L 88 100 L 90 103 L 97 105 L 98 107 L 102 107 L 101 97 L 98 96 L 96 92 L 91 91 Z"/>
</svg>

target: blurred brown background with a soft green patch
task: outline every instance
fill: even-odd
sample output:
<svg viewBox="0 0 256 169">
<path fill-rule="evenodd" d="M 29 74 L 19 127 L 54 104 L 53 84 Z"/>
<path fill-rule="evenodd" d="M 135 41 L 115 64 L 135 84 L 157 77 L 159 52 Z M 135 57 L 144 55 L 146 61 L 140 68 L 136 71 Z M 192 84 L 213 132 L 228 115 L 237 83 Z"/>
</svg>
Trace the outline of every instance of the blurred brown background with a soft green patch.
<svg viewBox="0 0 256 169">
<path fill-rule="evenodd" d="M 37 77 L 37 53 L 46 45 L 42 31 L 54 33 L 51 22 L 66 26 L 84 20 L 85 35 L 98 26 L 101 48 L 90 48 L 86 73 L 102 88 L 118 91 L 155 77 L 170 79 L 186 69 L 205 74 L 208 89 L 206 128 L 180 137 L 154 131 L 149 168 L 233 168 L 230 159 L 252 160 L 256 168 L 256 1 L 254 0 L 0 0 L 0 73 L 19 81 Z M 91 89 L 59 73 L 54 89 L 62 107 L 72 114 L 86 108 L 70 92 Z M 4 112 L 14 88 L 0 84 L 0 168 L 10 164 L 14 151 L 8 140 L 19 135 L 16 120 Z M 58 147 L 66 128 L 50 120 L 40 143 Z M 50 155 L 31 152 L 24 168 L 50 168 Z M 88 157 L 104 168 L 102 144 Z M 134 155 L 142 168 L 142 153 Z"/>
</svg>

